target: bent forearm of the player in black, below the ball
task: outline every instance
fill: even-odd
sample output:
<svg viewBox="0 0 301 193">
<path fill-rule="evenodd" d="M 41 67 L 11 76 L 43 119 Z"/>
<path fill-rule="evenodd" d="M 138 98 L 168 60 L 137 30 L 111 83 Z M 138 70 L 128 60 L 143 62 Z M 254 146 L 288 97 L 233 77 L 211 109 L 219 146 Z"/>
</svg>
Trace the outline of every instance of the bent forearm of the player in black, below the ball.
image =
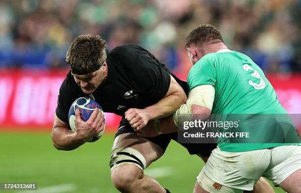
<svg viewBox="0 0 301 193">
<path fill-rule="evenodd" d="M 55 148 L 64 151 L 74 150 L 85 143 L 84 140 L 76 139 L 74 132 L 61 127 L 52 130 L 51 138 Z"/>
</svg>

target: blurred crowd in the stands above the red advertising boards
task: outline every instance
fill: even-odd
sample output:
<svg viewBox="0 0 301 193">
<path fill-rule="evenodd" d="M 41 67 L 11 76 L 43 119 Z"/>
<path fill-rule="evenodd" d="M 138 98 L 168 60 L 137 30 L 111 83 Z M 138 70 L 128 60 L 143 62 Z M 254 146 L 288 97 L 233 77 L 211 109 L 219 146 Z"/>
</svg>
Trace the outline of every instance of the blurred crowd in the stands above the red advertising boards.
<svg viewBox="0 0 301 193">
<path fill-rule="evenodd" d="M 90 33 L 186 73 L 185 37 L 204 23 L 266 72 L 301 71 L 301 0 L 0 0 L 0 67 L 67 67 L 72 40 Z"/>
</svg>

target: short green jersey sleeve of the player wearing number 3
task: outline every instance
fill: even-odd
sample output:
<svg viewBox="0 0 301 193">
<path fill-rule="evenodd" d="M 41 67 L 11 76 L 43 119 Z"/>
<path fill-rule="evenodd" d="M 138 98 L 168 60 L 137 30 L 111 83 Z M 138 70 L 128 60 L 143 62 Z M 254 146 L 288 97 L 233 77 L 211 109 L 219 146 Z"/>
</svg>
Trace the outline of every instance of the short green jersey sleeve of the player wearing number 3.
<svg viewBox="0 0 301 193">
<path fill-rule="evenodd" d="M 189 91 L 200 85 L 216 84 L 216 68 L 210 58 L 202 58 L 190 69 L 187 78 Z"/>
</svg>

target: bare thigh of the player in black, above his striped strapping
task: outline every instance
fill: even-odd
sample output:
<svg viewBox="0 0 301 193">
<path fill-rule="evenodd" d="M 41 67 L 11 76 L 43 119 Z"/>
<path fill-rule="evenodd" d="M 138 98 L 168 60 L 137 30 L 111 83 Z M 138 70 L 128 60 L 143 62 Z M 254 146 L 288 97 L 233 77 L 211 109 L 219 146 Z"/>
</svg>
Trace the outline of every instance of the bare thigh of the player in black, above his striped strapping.
<svg viewBox="0 0 301 193">
<path fill-rule="evenodd" d="M 145 167 L 149 166 L 152 161 L 159 159 L 165 151 L 162 147 L 151 142 L 149 139 L 138 137 L 135 132 L 123 133 L 117 136 L 114 140 L 112 152 L 119 148 L 137 150 L 146 161 Z"/>
</svg>

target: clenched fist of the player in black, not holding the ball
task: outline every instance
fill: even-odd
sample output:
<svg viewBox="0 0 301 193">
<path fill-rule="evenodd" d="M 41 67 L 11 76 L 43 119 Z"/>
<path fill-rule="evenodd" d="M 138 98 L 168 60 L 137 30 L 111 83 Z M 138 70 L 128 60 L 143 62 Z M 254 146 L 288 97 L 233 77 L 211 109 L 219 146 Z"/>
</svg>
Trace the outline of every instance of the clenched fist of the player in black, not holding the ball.
<svg viewBox="0 0 301 193">
<path fill-rule="evenodd" d="M 141 130 L 150 121 L 150 116 L 144 109 L 130 108 L 124 113 L 124 115 L 125 119 L 135 131 Z"/>
</svg>

